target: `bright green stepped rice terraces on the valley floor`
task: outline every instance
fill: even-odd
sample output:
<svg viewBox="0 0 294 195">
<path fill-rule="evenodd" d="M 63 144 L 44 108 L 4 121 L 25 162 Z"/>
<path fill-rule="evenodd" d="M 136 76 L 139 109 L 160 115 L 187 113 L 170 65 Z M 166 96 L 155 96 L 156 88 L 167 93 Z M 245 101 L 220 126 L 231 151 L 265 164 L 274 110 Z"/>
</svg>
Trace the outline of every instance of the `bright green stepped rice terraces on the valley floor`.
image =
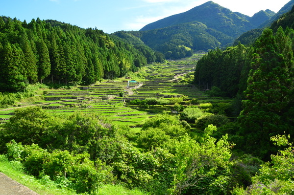
<svg viewBox="0 0 294 195">
<path fill-rule="evenodd" d="M 32 99 L 34 101 L 19 103 L 14 107 L 0 110 L 0 120 L 8 120 L 13 115 L 14 109 L 40 106 L 48 112 L 58 115 L 69 115 L 74 111 L 95 112 L 113 120 L 117 125 L 140 127 L 148 117 L 154 114 L 138 111 L 135 107 L 128 107 L 125 102 L 148 97 L 171 98 L 182 95 L 191 99 L 203 97 L 203 93 L 198 91 L 196 87 L 179 82 L 178 75 L 193 72 L 195 63 L 170 62 L 167 65 L 149 65 L 147 67 L 149 77 L 148 81 L 144 83 L 128 84 L 124 79 L 103 81 L 72 90 L 46 89 L 37 96 L 38 101 Z"/>
</svg>

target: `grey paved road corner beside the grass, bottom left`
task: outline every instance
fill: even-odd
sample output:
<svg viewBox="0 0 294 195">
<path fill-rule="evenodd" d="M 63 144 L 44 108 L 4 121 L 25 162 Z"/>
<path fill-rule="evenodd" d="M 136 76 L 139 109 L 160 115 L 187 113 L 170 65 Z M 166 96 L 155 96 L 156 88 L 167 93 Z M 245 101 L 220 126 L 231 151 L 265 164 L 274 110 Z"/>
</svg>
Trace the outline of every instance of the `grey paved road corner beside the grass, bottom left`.
<svg viewBox="0 0 294 195">
<path fill-rule="evenodd" d="M 38 195 L 0 172 L 0 195 Z"/>
</svg>

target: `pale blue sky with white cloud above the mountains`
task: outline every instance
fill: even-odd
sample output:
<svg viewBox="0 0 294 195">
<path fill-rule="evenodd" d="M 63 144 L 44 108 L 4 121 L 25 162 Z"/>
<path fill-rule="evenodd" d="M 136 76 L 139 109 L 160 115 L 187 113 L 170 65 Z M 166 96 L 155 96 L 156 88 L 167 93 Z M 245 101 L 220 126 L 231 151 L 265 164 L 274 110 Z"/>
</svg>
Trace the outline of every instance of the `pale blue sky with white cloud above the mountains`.
<svg viewBox="0 0 294 195">
<path fill-rule="evenodd" d="M 106 33 L 140 30 L 146 24 L 182 13 L 208 0 L 0 0 L 0 16 L 30 22 L 57 20 Z M 232 11 L 252 16 L 260 10 L 278 12 L 290 0 L 213 0 Z"/>
</svg>

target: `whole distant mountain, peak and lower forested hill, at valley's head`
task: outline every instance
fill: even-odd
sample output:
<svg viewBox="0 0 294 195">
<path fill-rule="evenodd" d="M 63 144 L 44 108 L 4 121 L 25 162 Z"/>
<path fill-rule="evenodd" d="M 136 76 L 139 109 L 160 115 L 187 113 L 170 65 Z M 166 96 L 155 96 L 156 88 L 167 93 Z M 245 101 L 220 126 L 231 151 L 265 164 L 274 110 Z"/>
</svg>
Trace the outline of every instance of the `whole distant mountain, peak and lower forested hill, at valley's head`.
<svg viewBox="0 0 294 195">
<path fill-rule="evenodd" d="M 266 10 L 249 17 L 208 1 L 187 12 L 147 24 L 140 31 L 124 34 L 140 38 L 152 49 L 164 53 L 167 59 L 177 59 L 191 56 L 194 50 L 233 43 L 243 32 L 256 28 L 273 15 L 274 12 Z"/>
</svg>

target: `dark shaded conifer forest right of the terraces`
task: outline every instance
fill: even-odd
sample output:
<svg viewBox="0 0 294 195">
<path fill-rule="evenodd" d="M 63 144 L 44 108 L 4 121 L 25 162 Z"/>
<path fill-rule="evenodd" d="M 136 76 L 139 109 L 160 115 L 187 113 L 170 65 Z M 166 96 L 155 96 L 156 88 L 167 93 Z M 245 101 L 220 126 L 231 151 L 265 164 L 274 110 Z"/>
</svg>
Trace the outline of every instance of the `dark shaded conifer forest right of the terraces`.
<svg viewBox="0 0 294 195">
<path fill-rule="evenodd" d="M 292 25 L 291 13 L 288 16 L 281 21 L 289 20 Z M 294 136 L 294 30 L 275 24 L 252 46 L 210 51 L 195 70 L 199 87 L 211 89 L 216 96 L 244 100 L 237 123 L 240 129 L 231 133 L 232 140 L 243 151 L 265 160 L 278 150 L 270 144 L 271 136 Z"/>
</svg>

